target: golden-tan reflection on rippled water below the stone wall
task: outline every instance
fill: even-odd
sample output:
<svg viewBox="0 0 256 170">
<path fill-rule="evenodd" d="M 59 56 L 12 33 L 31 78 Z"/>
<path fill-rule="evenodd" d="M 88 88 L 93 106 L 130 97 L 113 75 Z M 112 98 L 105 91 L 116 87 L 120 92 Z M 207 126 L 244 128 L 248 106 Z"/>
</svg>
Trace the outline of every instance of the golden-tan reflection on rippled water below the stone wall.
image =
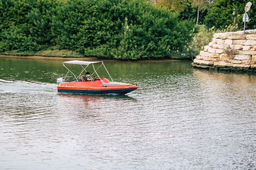
<svg viewBox="0 0 256 170">
<path fill-rule="evenodd" d="M 200 83 L 200 88 L 212 96 L 223 98 L 237 97 L 236 99 L 246 99 L 248 95 L 256 95 L 256 75 L 218 73 L 195 70 L 193 74 Z"/>
</svg>

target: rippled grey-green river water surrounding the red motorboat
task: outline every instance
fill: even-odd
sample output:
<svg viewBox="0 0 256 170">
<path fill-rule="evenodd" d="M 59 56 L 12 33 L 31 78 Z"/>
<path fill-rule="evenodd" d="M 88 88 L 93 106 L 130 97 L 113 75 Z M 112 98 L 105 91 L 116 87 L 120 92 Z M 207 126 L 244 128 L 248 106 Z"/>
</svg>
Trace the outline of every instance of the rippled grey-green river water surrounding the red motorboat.
<svg viewBox="0 0 256 170">
<path fill-rule="evenodd" d="M 107 60 L 139 88 L 61 94 L 66 60 L 0 57 L 1 170 L 256 169 L 255 74 Z"/>
</svg>

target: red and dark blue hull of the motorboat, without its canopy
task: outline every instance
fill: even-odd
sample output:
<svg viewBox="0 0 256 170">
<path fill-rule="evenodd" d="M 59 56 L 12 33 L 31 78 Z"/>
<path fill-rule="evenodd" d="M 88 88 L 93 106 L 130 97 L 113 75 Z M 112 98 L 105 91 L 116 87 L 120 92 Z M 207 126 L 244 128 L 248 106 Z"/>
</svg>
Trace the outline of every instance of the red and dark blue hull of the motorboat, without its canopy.
<svg viewBox="0 0 256 170">
<path fill-rule="evenodd" d="M 122 82 L 109 82 L 108 79 L 96 79 L 96 81 L 61 82 L 58 84 L 58 92 L 84 93 L 84 94 L 126 94 L 138 88 Z"/>
</svg>

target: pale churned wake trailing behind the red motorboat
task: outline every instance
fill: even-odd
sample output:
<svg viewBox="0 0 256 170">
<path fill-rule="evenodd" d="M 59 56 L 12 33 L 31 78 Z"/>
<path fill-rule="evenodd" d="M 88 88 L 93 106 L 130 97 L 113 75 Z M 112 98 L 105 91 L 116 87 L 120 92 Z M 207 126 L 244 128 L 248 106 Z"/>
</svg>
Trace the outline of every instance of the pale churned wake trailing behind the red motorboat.
<svg viewBox="0 0 256 170">
<path fill-rule="evenodd" d="M 9 81 L 0 79 L 0 93 L 57 93 L 57 85 L 44 82 Z"/>
</svg>

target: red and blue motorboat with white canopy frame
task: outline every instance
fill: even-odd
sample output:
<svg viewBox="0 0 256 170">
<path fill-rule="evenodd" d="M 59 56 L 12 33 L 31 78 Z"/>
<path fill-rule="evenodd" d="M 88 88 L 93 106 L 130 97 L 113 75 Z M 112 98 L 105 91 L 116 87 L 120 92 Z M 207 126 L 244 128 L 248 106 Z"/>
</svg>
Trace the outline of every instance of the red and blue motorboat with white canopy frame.
<svg viewBox="0 0 256 170">
<path fill-rule="evenodd" d="M 63 78 L 57 79 L 58 92 L 83 93 L 83 94 L 127 94 L 138 88 L 137 85 L 131 85 L 131 84 L 122 83 L 122 82 L 114 82 L 110 74 L 108 73 L 108 70 L 105 67 L 103 61 L 89 62 L 89 61 L 72 60 L 72 61 L 65 61 L 62 64 L 63 65 L 64 64 L 81 65 L 82 71 L 78 76 L 76 76 L 72 71 L 70 71 L 69 68 L 67 68 L 66 65 L 64 65 L 64 67 L 67 68 L 68 71 L 64 79 Z M 96 64 L 98 65 L 100 64 L 99 67 L 101 67 L 102 65 L 104 66 L 111 81 L 109 81 L 106 78 L 99 78 L 99 74 L 96 72 L 99 69 L 99 67 L 95 69 L 95 66 L 94 66 Z M 96 78 L 89 77 L 93 80 L 84 81 L 83 79 L 80 79 L 80 77 L 84 72 L 87 72 L 86 69 L 89 65 L 93 66 L 94 73 L 92 75 L 96 74 L 97 77 Z M 68 74 L 72 74 L 75 77 L 75 79 L 68 80 L 67 78 Z"/>
</svg>

